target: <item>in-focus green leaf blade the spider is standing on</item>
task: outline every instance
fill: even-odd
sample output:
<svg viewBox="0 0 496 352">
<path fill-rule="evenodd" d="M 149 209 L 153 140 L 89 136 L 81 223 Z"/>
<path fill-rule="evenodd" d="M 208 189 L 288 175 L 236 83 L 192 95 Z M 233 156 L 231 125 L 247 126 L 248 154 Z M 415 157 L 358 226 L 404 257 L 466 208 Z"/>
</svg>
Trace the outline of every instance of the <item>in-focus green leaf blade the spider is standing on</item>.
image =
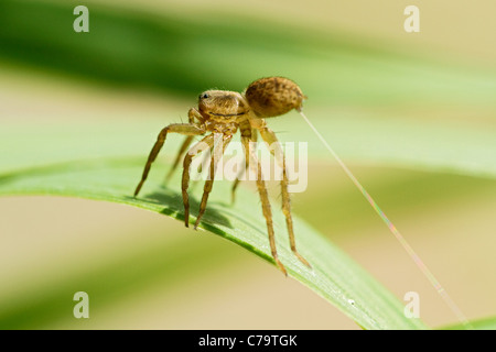
<svg viewBox="0 0 496 352">
<path fill-rule="evenodd" d="M 14 141 L 25 138 L 11 135 Z M 78 130 L 80 136 L 82 131 Z M 76 136 L 77 134 L 73 134 Z M 64 145 L 67 134 L 52 136 L 52 147 Z M 79 141 L 83 141 L 80 139 Z M 90 140 L 90 138 L 89 138 Z M 19 140 L 18 140 L 19 141 Z M 121 144 L 126 140 L 122 139 Z M 17 142 L 19 144 L 19 142 Z M 86 144 L 73 142 L 74 155 Z M 168 145 L 168 150 L 172 148 Z M 9 145 L 14 150 L 15 144 Z M 45 145 L 46 146 L 46 145 Z M 61 151 L 62 152 L 62 151 Z M 82 153 L 84 154 L 84 153 Z M 40 154 L 37 154 L 40 156 Z M 45 163 L 48 158 L 44 155 Z M 154 165 L 140 197 L 132 191 L 140 178 L 144 157 L 109 157 L 61 162 L 31 168 L 3 170 L 0 174 L 0 195 L 58 195 L 133 206 L 183 220 L 180 175 L 168 187 L 161 187 L 162 174 L 168 168 Z M 4 166 L 6 164 L 2 164 Z M 180 174 L 180 173 L 177 173 Z M 192 193 L 192 215 L 198 209 L 198 189 Z M 270 255 L 267 228 L 257 194 L 240 189 L 235 206 L 229 204 L 230 183 L 217 182 L 211 196 L 201 228 L 246 248 L 273 263 Z M 273 207 L 279 209 L 279 207 Z M 280 211 L 274 212 L 278 251 L 289 275 L 331 301 L 365 329 L 424 329 L 417 319 L 403 316 L 402 304 L 345 253 L 319 234 L 303 220 L 294 217 L 299 251 L 312 264 L 309 270 L 292 254 L 287 239 L 285 222 Z M 194 230 L 192 230 L 194 231 Z M 276 270 L 276 267 L 273 267 Z M 281 274 L 282 275 L 282 274 Z"/>
</svg>

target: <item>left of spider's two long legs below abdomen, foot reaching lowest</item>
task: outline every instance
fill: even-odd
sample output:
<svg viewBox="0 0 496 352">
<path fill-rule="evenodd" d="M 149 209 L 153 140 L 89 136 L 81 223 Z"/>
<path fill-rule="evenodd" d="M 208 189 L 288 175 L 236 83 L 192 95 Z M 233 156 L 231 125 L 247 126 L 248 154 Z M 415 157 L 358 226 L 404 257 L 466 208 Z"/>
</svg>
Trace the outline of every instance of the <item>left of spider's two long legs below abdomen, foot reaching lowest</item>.
<svg viewBox="0 0 496 352">
<path fill-rule="evenodd" d="M 249 165 L 254 168 L 254 170 L 257 172 L 257 189 L 258 189 L 258 194 L 260 195 L 260 200 L 262 204 L 262 212 L 263 212 L 263 217 L 266 218 L 266 222 L 267 222 L 267 231 L 269 233 L 269 243 L 270 243 L 270 251 L 272 253 L 272 257 L 273 257 L 276 264 L 278 265 L 278 267 L 281 270 L 281 272 L 284 273 L 285 276 L 288 276 L 288 272 L 285 271 L 284 265 L 282 265 L 281 261 L 279 260 L 278 252 L 276 249 L 276 234 L 273 232 L 272 211 L 270 209 L 269 195 L 267 193 L 266 182 L 263 180 L 262 173 L 261 173 L 261 165 L 257 158 L 257 155 L 255 154 L 255 151 L 250 150 L 250 145 L 249 145 L 250 139 L 247 136 L 241 136 L 241 142 L 242 142 L 245 150 L 249 151 L 249 155 L 250 155 Z"/>
</svg>

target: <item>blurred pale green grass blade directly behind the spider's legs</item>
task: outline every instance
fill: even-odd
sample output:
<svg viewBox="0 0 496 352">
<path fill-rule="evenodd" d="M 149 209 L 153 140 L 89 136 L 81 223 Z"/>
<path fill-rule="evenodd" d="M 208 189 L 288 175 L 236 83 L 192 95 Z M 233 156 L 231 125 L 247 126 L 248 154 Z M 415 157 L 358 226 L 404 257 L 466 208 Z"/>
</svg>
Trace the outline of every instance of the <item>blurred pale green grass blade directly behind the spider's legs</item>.
<svg viewBox="0 0 496 352">
<path fill-rule="evenodd" d="M 98 128 L 75 122 L 50 128 L 6 124 L 0 130 L 0 139 L 9 154 L 0 155 L 0 172 L 74 158 L 142 154 L 151 147 L 158 131 L 170 122 L 177 122 L 179 118 L 173 117 L 181 114 L 184 111 L 164 111 L 166 120 L 136 122 L 136 117 L 122 117 L 118 123 L 101 121 Z M 312 109 L 306 114 L 348 163 L 496 178 L 496 133 L 485 125 L 446 125 L 357 113 L 335 116 Z M 333 162 L 298 113 L 291 112 L 269 123 L 282 142 L 306 142 L 310 158 Z M 179 142 L 180 139 L 170 139 L 168 150 L 175 151 Z"/>
</svg>

